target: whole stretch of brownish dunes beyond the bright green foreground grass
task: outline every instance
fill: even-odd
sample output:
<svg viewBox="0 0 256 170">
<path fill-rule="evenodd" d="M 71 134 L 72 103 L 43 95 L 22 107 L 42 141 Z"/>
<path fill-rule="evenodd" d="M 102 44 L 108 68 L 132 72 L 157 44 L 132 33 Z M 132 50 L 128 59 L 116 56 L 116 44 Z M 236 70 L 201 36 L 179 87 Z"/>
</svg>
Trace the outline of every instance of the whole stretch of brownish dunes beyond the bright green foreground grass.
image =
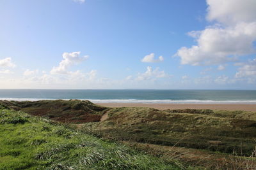
<svg viewBox="0 0 256 170">
<path fill-rule="evenodd" d="M 26 111 L 30 115 L 40 116 L 44 118 L 40 119 L 44 124 L 48 118 L 73 124 L 78 129 L 76 131 L 81 131 L 79 138 L 91 134 L 118 141 L 153 157 L 161 157 L 161 161 L 176 162 L 179 167 L 256 168 L 256 160 L 249 158 L 256 156 L 254 112 L 106 108 L 90 101 L 79 100 L 0 101 L 0 104 L 6 109 Z M 29 118 L 39 121 L 37 117 Z M 50 124 L 53 125 L 52 122 Z M 182 162 L 182 165 L 179 162 Z"/>
</svg>

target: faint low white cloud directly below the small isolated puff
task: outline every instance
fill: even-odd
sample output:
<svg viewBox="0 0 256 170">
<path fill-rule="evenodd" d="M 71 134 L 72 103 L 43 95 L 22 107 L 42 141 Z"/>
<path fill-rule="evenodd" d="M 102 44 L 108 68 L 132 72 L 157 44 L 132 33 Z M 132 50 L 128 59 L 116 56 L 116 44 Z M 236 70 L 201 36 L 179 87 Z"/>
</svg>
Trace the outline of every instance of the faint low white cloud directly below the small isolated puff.
<svg viewBox="0 0 256 170">
<path fill-rule="evenodd" d="M 154 78 L 164 78 L 168 76 L 169 75 L 164 73 L 164 71 L 159 71 L 159 67 L 152 69 L 152 67 L 148 66 L 145 73 L 139 73 L 137 80 L 152 80 Z"/>
</svg>

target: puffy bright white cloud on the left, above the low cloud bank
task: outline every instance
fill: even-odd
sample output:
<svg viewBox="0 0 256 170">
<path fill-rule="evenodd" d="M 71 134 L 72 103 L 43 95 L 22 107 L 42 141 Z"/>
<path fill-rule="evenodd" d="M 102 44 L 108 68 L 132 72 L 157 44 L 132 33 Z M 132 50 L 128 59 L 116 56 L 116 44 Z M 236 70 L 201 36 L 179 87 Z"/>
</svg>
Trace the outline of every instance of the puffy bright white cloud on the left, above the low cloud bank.
<svg viewBox="0 0 256 170">
<path fill-rule="evenodd" d="M 79 64 L 85 59 L 88 59 L 88 55 L 84 57 L 79 57 L 81 52 L 72 52 L 68 53 L 65 52 L 63 53 L 62 57 L 63 60 L 61 60 L 60 64 L 58 67 L 52 67 L 51 73 L 52 74 L 68 74 L 71 72 L 68 72 L 67 69 L 70 66 L 73 66 L 74 64 Z"/>
</svg>

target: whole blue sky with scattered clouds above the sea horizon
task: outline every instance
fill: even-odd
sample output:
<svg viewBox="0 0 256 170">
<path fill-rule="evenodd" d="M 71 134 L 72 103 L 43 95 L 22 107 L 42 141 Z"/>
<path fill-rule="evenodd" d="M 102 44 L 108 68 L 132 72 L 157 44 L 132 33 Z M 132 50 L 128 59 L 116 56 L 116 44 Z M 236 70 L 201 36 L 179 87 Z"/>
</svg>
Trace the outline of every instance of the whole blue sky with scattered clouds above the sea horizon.
<svg viewBox="0 0 256 170">
<path fill-rule="evenodd" d="M 0 89 L 256 90 L 255 0 L 0 0 Z"/>
</svg>

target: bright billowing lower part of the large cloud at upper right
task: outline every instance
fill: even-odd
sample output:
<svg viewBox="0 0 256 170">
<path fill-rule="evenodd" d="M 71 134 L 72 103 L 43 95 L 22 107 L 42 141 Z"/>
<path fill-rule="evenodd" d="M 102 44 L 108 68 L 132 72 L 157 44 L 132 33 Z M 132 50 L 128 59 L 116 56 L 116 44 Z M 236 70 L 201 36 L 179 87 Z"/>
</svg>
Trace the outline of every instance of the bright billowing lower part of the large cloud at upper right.
<svg viewBox="0 0 256 170">
<path fill-rule="evenodd" d="M 234 57 L 255 52 L 253 41 L 256 40 L 256 22 L 241 23 L 236 27 L 209 27 L 194 36 L 198 45 L 182 47 L 177 52 L 181 64 L 220 64 L 234 60 L 230 55 Z"/>
</svg>

